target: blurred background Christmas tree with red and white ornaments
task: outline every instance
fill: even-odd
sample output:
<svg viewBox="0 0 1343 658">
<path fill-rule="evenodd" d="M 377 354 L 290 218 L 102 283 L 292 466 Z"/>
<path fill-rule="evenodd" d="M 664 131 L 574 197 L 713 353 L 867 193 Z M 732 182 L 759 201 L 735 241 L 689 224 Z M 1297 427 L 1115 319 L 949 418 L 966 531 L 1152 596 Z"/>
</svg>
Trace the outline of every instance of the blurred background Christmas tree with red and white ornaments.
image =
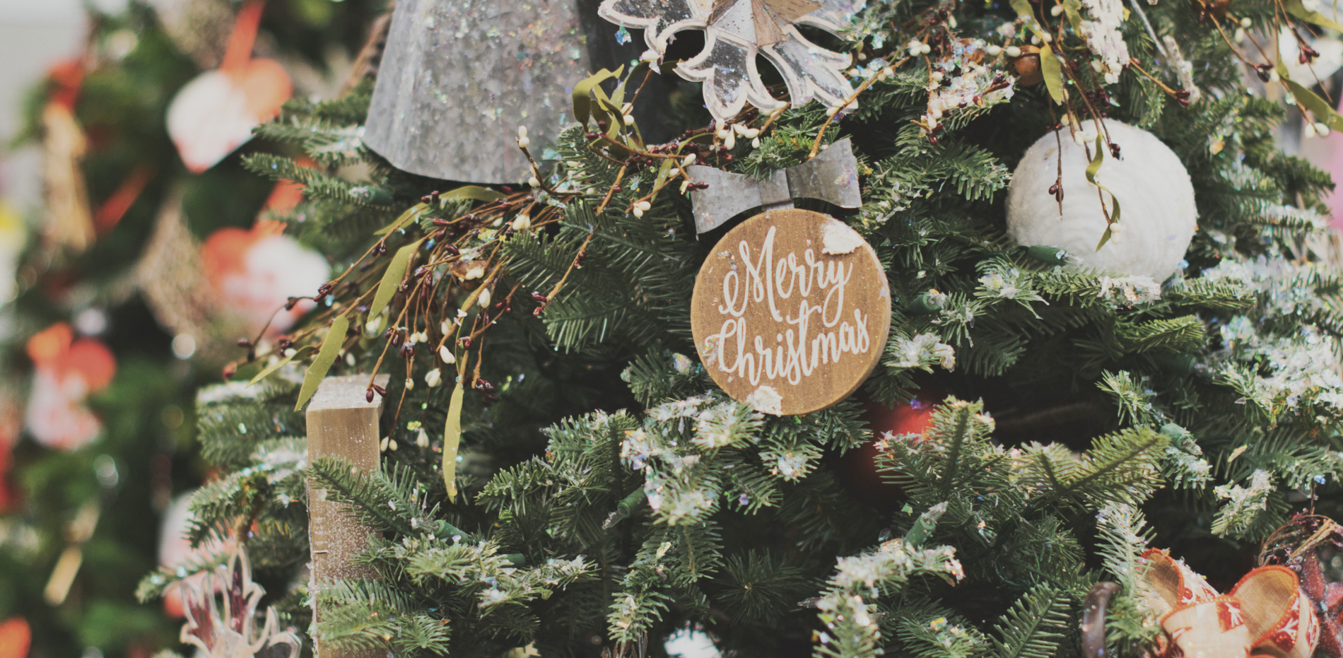
<svg viewBox="0 0 1343 658">
<path fill-rule="evenodd" d="M 144 3 L 90 9 L 83 52 L 32 93 L 19 140 L 43 148 L 47 203 L 16 248 L 17 290 L 3 310 L 4 655 L 144 657 L 177 643 L 173 615 L 134 590 L 160 561 L 163 516 L 210 467 L 192 407 L 222 360 L 146 273 L 161 271 L 165 226 L 199 246 L 191 240 L 251 227 L 271 195 L 240 156 L 189 173 L 165 126 L 177 91 L 219 66 L 236 9 L 177 3 L 179 15 L 214 12 L 201 24 Z M 357 52 L 381 9 L 275 1 L 259 50 L 320 79 L 328 47 Z M 274 145 L 247 146 L 258 148 Z"/>
</svg>

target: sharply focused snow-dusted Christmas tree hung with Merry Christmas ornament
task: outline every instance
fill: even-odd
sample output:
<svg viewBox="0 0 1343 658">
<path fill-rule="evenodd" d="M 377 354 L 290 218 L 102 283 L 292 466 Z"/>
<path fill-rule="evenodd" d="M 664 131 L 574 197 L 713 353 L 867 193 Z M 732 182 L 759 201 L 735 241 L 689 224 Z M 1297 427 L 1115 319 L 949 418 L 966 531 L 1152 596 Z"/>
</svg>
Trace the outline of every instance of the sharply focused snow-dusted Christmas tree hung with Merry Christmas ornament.
<svg viewBox="0 0 1343 658">
<path fill-rule="evenodd" d="M 1308 655 L 1323 623 L 1336 655 L 1311 600 L 1338 533 L 1293 516 L 1339 513 L 1332 181 L 1273 133 L 1288 111 L 1343 128 L 1279 54 L 1309 63 L 1331 19 L 1300 1 L 599 13 L 649 51 L 573 86 L 577 125 L 537 136 L 482 95 L 497 130 L 455 136 L 516 142 L 517 185 L 361 144 L 389 120 L 365 115 L 372 81 L 258 130 L 316 162 L 246 158 L 305 185 L 290 230 L 338 275 L 201 393 L 226 475 L 193 497 L 192 538 L 235 537 L 290 583 L 282 620 L 393 655 L 663 655 L 690 628 L 771 657 L 1148 655 L 1233 631 L 1252 637 L 1226 655 Z M 846 185 L 861 207 L 830 193 Z M 802 231 L 818 215 L 788 197 L 831 219 Z M 845 270 L 869 254 L 878 275 Z M 808 281 L 845 324 L 830 297 L 788 298 Z M 888 303 L 889 334 L 845 294 Z M 741 297 L 751 329 L 720 329 Z M 838 329 L 807 333 L 813 312 Z M 373 471 L 308 459 L 301 410 L 329 375 L 383 400 Z M 872 469 L 878 494 L 854 486 Z M 368 577 L 309 581 L 308 478 L 367 529 Z M 1214 600 L 1195 572 L 1225 590 L 1256 560 L 1307 575 L 1304 616 L 1163 627 Z M 1260 590 L 1219 610 L 1268 607 Z"/>
</svg>

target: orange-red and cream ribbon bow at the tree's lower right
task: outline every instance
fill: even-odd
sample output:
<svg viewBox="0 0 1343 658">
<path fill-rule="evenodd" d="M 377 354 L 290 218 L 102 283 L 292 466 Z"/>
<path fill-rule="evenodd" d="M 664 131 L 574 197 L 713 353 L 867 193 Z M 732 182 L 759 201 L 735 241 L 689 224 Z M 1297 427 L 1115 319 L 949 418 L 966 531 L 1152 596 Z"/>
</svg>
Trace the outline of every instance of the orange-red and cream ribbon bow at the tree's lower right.
<svg viewBox="0 0 1343 658">
<path fill-rule="evenodd" d="M 1250 571 L 1229 594 L 1164 551 L 1143 553 L 1147 602 L 1168 642 L 1155 658 L 1309 658 L 1320 637 L 1311 600 L 1287 567 Z"/>
</svg>

